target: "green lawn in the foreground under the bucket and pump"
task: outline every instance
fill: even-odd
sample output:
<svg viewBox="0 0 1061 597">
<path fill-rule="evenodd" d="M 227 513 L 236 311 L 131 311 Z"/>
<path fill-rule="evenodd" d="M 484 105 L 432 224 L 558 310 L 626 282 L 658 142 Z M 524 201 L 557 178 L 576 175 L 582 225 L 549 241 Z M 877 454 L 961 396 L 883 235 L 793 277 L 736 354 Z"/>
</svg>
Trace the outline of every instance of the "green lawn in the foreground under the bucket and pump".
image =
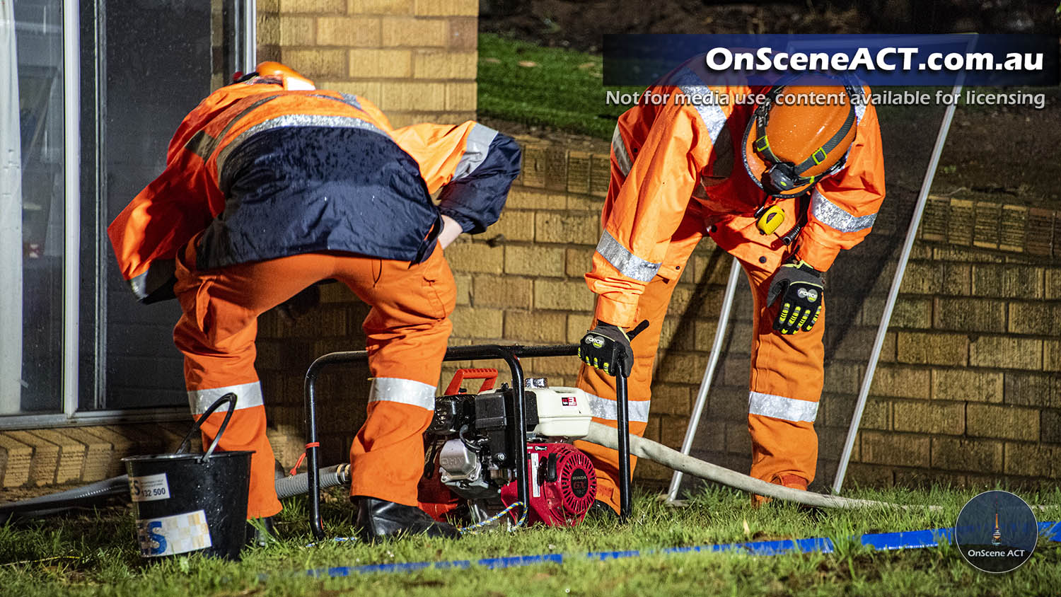
<svg viewBox="0 0 1061 597">
<path fill-rule="evenodd" d="M 1061 543 L 1041 540 L 1016 572 L 989 575 L 970 567 L 950 545 L 875 551 L 850 537 L 954 524 L 973 490 L 852 491 L 852 496 L 902 504 L 939 504 L 942 512 L 810 511 L 771 504 L 751 508 L 746 495 L 705 489 L 686 508 L 669 508 L 640 493 L 625 527 L 588 521 L 573 529 L 491 531 L 462 541 L 420 538 L 380 545 L 310 542 L 302 499 L 285 503 L 282 540 L 244 551 L 242 563 L 198 556 L 145 563 L 133 539 L 132 513 L 121 507 L 89 515 L 8 523 L 0 527 L 0 594 L 34 595 L 1056 595 Z M 338 494 L 335 494 L 338 495 Z M 1022 494 L 1030 503 L 1061 505 L 1061 493 Z M 326 504 L 330 533 L 349 532 L 351 508 L 342 496 Z M 1061 507 L 1038 513 L 1061 517 Z M 651 549 L 741 541 L 829 537 L 833 554 L 754 557 L 736 552 L 649 555 L 593 561 L 587 551 Z M 489 569 L 425 569 L 313 578 L 329 566 L 479 560 L 563 554 L 562 564 Z"/>
</svg>

